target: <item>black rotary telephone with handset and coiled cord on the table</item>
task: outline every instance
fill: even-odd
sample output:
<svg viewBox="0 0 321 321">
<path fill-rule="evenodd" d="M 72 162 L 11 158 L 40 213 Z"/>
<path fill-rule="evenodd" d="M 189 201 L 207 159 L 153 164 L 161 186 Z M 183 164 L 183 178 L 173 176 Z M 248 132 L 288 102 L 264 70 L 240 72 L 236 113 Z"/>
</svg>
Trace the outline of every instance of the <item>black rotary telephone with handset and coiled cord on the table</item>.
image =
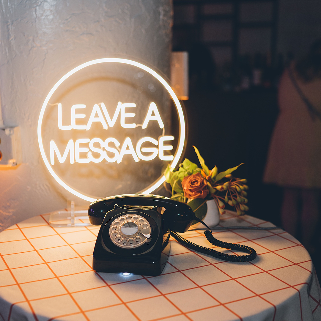
<svg viewBox="0 0 321 321">
<path fill-rule="evenodd" d="M 169 256 L 170 235 L 186 247 L 222 260 L 247 262 L 256 257 L 251 247 L 215 239 L 187 204 L 159 195 L 102 198 L 90 204 L 88 216 L 91 224 L 101 225 L 92 260 L 97 272 L 160 275 Z M 204 234 L 211 244 L 248 254 L 228 255 L 183 239 L 177 232 L 186 232 L 193 220 L 208 228 Z"/>
</svg>

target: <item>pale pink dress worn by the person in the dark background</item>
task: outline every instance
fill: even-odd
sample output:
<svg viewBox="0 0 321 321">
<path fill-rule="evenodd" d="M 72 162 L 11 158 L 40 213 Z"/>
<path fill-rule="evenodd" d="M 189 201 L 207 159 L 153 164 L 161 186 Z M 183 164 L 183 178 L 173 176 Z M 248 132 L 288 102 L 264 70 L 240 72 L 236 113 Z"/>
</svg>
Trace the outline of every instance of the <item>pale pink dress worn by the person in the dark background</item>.
<svg viewBox="0 0 321 321">
<path fill-rule="evenodd" d="M 303 94 L 321 112 L 321 79 L 304 83 L 293 74 Z M 321 120 L 311 119 L 288 70 L 280 80 L 278 102 L 280 114 L 263 180 L 283 187 L 321 188 Z"/>
</svg>

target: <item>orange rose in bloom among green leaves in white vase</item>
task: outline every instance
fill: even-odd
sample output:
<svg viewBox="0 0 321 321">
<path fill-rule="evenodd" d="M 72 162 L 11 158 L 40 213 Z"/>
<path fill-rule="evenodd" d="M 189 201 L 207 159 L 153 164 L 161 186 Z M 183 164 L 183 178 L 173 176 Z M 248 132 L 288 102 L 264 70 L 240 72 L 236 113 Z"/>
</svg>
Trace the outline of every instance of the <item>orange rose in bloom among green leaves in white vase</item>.
<svg viewBox="0 0 321 321">
<path fill-rule="evenodd" d="M 191 200 L 194 198 L 205 198 L 208 194 L 206 181 L 200 173 L 184 177 L 182 187 L 184 196 Z"/>
</svg>

